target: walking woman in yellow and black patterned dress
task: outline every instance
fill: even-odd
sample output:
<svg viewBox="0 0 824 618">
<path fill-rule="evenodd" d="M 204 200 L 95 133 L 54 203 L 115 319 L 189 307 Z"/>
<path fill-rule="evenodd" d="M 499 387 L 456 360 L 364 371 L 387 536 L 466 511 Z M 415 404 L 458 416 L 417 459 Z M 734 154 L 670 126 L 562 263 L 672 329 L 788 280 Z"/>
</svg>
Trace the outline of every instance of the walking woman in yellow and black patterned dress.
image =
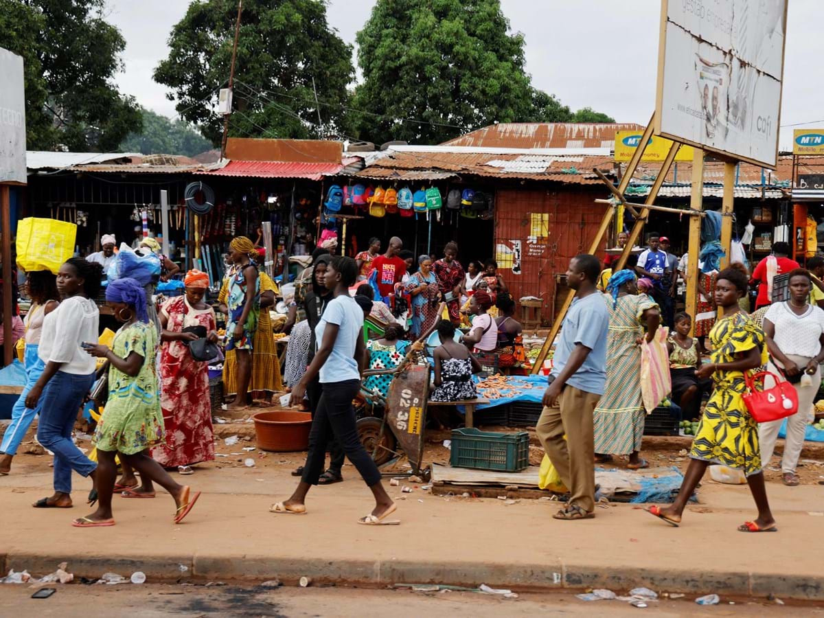
<svg viewBox="0 0 824 618">
<path fill-rule="evenodd" d="M 747 475 L 752 498 L 758 508 L 754 522 L 738 527 L 742 532 L 774 532 L 775 519 L 770 512 L 761 470 L 761 448 L 758 444 L 758 424 L 752 419 L 742 395 L 747 390 L 744 372 L 766 363 L 767 349 L 764 331 L 738 306 L 738 299 L 747 293 L 747 277 L 735 269 L 719 273 L 715 284 L 715 303 L 723 311 L 709 339 L 713 344 L 712 363 L 705 364 L 696 375 L 713 377 L 714 391 L 701 417 L 692 442 L 690 466 L 684 475 L 678 497 L 672 506 L 652 506 L 648 512 L 677 527 L 687 501 L 710 463 L 742 470 Z"/>
</svg>

